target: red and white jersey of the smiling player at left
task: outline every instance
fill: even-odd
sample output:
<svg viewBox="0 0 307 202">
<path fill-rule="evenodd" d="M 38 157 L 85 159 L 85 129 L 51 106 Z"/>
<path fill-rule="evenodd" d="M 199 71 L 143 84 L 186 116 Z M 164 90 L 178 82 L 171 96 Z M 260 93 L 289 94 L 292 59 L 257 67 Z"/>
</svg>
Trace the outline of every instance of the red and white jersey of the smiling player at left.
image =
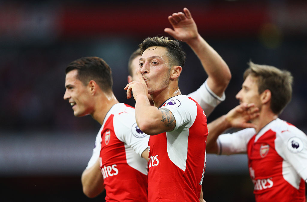
<svg viewBox="0 0 307 202">
<path fill-rule="evenodd" d="M 141 157 L 149 136 L 135 122 L 134 108 L 112 106 L 101 130 L 100 169 L 106 201 L 147 201 L 148 163 Z"/>
</svg>

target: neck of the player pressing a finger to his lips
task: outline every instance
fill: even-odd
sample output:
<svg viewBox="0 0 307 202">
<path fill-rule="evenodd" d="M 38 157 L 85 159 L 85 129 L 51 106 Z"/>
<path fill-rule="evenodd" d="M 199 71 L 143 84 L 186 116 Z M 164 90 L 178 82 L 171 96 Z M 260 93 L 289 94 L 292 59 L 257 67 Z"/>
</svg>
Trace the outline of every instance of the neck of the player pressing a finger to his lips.
<svg viewBox="0 0 307 202">
<path fill-rule="evenodd" d="M 153 99 L 154 106 L 160 107 L 165 102 L 165 100 L 176 95 L 181 95 L 178 85 L 174 88 L 169 86 L 160 92 L 155 92 L 151 94 L 151 98 Z"/>
</svg>

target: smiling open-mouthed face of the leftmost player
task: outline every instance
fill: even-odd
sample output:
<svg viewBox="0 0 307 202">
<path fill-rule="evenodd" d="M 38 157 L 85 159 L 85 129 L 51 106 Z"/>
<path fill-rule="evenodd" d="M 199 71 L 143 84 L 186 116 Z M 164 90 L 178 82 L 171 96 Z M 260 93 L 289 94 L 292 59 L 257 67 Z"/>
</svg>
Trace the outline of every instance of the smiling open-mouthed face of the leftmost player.
<svg viewBox="0 0 307 202">
<path fill-rule="evenodd" d="M 66 74 L 64 100 L 68 100 L 76 117 L 91 114 L 93 103 L 91 101 L 90 88 L 76 78 L 77 70 Z"/>
</svg>

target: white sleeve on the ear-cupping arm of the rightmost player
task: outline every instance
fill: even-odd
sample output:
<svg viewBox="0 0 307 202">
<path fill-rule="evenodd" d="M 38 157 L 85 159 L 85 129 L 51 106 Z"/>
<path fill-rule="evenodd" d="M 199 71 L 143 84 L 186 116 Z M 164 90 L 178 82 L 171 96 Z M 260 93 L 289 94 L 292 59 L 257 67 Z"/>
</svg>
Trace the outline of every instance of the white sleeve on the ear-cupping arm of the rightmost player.
<svg viewBox="0 0 307 202">
<path fill-rule="evenodd" d="M 254 128 L 246 128 L 235 133 L 220 135 L 217 140 L 218 155 L 231 155 L 247 152 L 248 141 L 256 134 Z"/>
</svg>

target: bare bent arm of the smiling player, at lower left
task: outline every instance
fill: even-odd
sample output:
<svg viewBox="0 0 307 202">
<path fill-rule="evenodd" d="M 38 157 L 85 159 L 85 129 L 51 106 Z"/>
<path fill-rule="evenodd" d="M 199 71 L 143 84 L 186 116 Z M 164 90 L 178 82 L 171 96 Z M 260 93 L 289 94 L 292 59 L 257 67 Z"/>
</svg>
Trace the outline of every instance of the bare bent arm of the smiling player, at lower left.
<svg viewBox="0 0 307 202">
<path fill-rule="evenodd" d="M 89 198 L 98 196 L 104 190 L 103 176 L 99 169 L 99 159 L 93 166 L 83 171 L 81 183 L 83 193 Z"/>
</svg>

